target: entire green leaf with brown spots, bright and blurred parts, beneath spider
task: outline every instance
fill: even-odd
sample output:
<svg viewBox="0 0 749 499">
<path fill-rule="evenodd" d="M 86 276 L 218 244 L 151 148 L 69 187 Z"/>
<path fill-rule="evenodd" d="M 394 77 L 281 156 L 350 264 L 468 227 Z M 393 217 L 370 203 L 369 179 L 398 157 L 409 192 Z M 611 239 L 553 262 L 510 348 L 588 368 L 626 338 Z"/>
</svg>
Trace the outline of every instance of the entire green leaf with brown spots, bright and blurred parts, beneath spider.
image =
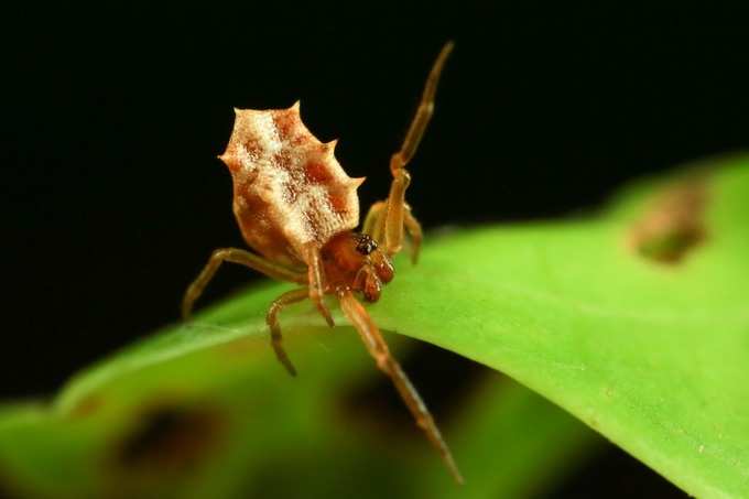
<svg viewBox="0 0 749 499">
<path fill-rule="evenodd" d="M 509 375 L 690 493 L 747 496 L 749 160 L 714 163 L 697 181 L 632 186 L 595 218 L 432 238 L 416 268 L 399 259 L 369 311 L 386 330 Z M 684 185 L 675 208 L 664 204 Z M 374 372 L 349 327 L 291 307 L 282 326 L 301 376 L 283 375 L 262 318 L 287 288 L 251 290 L 143 340 L 50 408 L 7 406 L 0 489 L 518 497 L 591 448 L 564 412 L 488 381 L 443 424 L 467 479 L 458 489 L 421 438 L 347 412 L 345 393 Z"/>
</svg>

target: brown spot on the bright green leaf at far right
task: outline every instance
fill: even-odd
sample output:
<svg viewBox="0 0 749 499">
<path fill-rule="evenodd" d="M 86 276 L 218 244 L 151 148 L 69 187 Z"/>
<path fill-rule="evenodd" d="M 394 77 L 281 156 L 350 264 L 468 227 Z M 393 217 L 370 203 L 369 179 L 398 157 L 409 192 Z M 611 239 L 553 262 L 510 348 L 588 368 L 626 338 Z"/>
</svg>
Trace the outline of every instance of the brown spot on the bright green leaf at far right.
<svg viewBox="0 0 749 499">
<path fill-rule="evenodd" d="M 696 176 L 664 192 L 631 230 L 632 246 L 659 263 L 679 263 L 704 242 L 707 182 Z"/>
</svg>

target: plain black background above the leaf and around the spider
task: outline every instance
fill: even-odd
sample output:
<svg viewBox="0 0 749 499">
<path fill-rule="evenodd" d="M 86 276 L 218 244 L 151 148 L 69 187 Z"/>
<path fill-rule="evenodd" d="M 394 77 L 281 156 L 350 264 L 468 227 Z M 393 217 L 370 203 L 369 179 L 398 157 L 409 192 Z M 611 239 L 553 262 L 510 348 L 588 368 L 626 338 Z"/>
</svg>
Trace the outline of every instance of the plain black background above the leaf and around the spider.
<svg viewBox="0 0 749 499">
<path fill-rule="evenodd" d="M 368 177 L 366 207 L 454 39 L 411 169 L 427 228 L 590 210 L 627 180 L 746 148 L 749 12 L 654 3 L 7 13 L 0 394 L 48 394 L 175 321 L 210 250 L 242 246 L 215 158 L 232 106 L 301 99 Z M 222 271 L 203 303 L 251 279 Z"/>
</svg>

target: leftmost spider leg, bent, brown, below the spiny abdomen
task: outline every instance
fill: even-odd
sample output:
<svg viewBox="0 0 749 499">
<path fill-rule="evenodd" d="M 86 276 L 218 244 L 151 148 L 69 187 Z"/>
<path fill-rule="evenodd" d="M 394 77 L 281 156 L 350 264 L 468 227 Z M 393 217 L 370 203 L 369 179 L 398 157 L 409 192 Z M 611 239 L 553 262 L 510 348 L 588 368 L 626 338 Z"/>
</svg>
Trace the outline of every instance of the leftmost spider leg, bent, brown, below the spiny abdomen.
<svg viewBox="0 0 749 499">
<path fill-rule="evenodd" d="M 291 281 L 298 284 L 307 283 L 307 279 L 304 273 L 279 265 L 278 263 L 273 263 L 249 251 L 238 248 L 217 249 L 210 254 L 208 263 L 206 263 L 206 265 L 203 268 L 199 275 L 187 288 L 187 291 L 185 291 L 185 295 L 182 299 L 183 318 L 186 319 L 189 317 L 195 301 L 200 296 L 200 294 L 203 294 L 203 291 L 208 285 L 208 282 L 210 282 L 218 268 L 221 267 L 221 263 L 225 261 L 249 267 L 252 270 L 257 270 L 258 272 L 279 281 Z"/>
</svg>

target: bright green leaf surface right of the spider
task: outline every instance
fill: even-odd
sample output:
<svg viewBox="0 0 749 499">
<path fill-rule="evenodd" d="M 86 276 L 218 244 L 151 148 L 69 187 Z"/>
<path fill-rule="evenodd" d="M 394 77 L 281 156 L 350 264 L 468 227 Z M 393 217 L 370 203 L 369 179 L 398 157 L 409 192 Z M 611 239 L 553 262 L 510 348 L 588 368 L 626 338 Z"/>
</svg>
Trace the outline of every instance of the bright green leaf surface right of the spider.
<svg viewBox="0 0 749 499">
<path fill-rule="evenodd" d="M 445 238 L 372 314 L 511 376 L 690 493 L 749 496 L 749 160 L 701 166 L 706 237 L 677 263 L 629 240 L 690 176 L 595 219 Z"/>
</svg>

